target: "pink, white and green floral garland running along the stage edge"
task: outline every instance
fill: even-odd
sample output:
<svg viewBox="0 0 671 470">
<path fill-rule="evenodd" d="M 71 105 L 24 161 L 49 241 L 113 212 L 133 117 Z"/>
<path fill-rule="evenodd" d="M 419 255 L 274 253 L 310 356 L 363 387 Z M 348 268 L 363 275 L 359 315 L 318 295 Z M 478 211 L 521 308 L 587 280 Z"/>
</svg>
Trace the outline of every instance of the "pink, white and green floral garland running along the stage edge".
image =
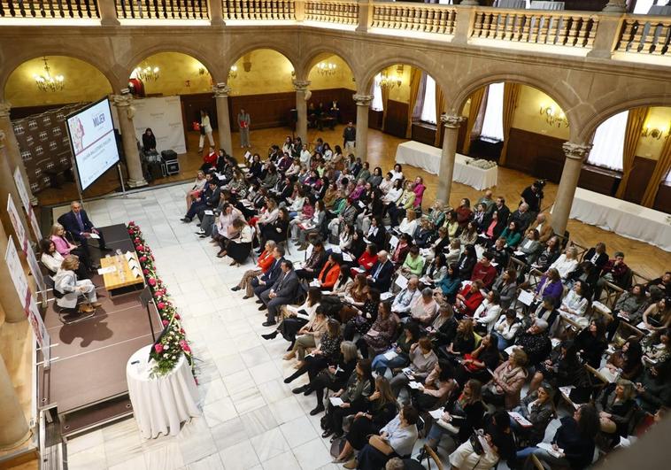
<svg viewBox="0 0 671 470">
<path fill-rule="evenodd" d="M 184 354 L 184 357 L 191 366 L 191 372 L 196 379 L 193 354 L 187 342 L 184 328 L 181 327 L 181 317 L 170 300 L 166 285 L 158 277 L 155 264 L 156 259 L 151 253 L 149 246 L 144 243 L 143 232 L 140 230 L 140 227 L 131 221 L 128 222 L 127 228 L 128 235 L 130 235 L 135 246 L 140 266 L 143 269 L 144 278 L 147 280 L 151 295 L 154 298 L 154 304 L 156 304 L 158 310 L 158 315 L 165 329 L 164 333 L 158 338 L 158 342 L 151 349 L 150 357 L 155 363 L 151 370 L 151 375 L 161 376 L 170 373 L 177 364 L 177 361 L 180 360 L 181 354 Z"/>
</svg>

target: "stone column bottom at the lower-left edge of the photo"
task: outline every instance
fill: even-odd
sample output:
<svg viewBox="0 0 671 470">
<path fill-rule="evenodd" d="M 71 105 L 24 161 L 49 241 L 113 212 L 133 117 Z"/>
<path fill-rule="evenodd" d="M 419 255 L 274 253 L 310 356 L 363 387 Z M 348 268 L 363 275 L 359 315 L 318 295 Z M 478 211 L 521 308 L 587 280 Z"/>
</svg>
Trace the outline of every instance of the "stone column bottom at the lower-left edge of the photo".
<svg viewBox="0 0 671 470">
<path fill-rule="evenodd" d="M 3 260 L 4 264 L 4 260 Z M 23 409 L 16 396 L 12 378 L 0 357 L 0 451 L 5 451 L 26 442 L 30 429 Z"/>
</svg>

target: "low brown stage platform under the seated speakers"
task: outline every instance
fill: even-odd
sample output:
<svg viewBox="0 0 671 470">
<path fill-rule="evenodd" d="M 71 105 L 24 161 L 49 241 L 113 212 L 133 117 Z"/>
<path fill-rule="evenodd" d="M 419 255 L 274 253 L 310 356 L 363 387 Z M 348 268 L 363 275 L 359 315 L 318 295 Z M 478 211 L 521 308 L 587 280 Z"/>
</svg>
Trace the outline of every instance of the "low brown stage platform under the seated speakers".
<svg viewBox="0 0 671 470">
<path fill-rule="evenodd" d="M 135 252 L 125 225 L 99 230 L 112 250 Z M 94 258 L 96 252 L 91 246 Z M 126 362 L 135 351 L 153 341 L 147 310 L 140 302 L 141 289 L 112 297 L 104 289 L 102 276 L 96 274 L 92 281 L 102 304 L 92 317 L 64 324 L 54 310 L 52 298 L 44 312 L 44 324 L 54 346 L 50 369 L 38 367 L 38 403 L 40 407 L 56 407 L 63 435 L 73 435 L 133 412 L 128 400 Z M 149 308 L 158 337 L 161 320 L 153 303 Z M 63 318 L 68 322 L 76 319 Z M 38 358 L 38 362 L 41 360 Z"/>
</svg>

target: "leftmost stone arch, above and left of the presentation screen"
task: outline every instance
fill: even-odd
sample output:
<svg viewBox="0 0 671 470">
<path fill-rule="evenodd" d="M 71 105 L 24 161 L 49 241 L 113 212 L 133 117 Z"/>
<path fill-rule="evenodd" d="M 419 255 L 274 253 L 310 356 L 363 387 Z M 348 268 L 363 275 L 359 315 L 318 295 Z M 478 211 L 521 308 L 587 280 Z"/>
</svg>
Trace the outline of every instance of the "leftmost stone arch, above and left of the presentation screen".
<svg viewBox="0 0 671 470">
<path fill-rule="evenodd" d="M 112 66 L 112 64 L 108 61 L 105 61 L 104 58 L 98 57 L 96 56 L 96 54 L 91 54 L 90 51 L 88 50 L 87 51 L 77 50 L 76 48 L 74 48 L 74 49 L 68 49 L 67 52 L 64 53 L 63 50 L 58 47 L 46 47 L 46 48 L 39 48 L 39 52 L 37 53 L 35 53 L 35 50 L 32 50 L 28 53 L 12 56 L 4 63 L 3 73 L 0 74 L 0 96 L 3 97 L 5 96 L 4 90 L 7 87 L 7 82 L 12 76 L 12 73 L 14 73 L 16 69 L 19 68 L 19 66 L 25 64 L 30 60 L 34 60 L 35 58 L 42 58 L 45 56 L 46 57 L 58 56 L 66 58 L 76 58 L 78 60 L 81 60 L 81 62 L 91 65 L 98 72 L 102 73 L 105 80 L 112 88 L 113 92 L 120 91 L 120 87 L 118 86 L 118 84 L 120 83 L 119 77 L 116 75 L 116 73 L 113 72 L 114 67 Z"/>
</svg>

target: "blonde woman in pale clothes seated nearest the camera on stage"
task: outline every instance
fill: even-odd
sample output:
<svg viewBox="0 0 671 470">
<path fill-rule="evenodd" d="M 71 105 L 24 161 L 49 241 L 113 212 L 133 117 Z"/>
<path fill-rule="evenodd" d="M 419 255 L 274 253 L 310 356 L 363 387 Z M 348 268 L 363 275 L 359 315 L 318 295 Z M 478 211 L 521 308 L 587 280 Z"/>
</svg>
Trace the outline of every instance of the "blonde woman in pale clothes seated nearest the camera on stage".
<svg viewBox="0 0 671 470">
<path fill-rule="evenodd" d="M 86 300 L 78 308 L 80 313 L 90 313 L 96 310 L 100 304 L 96 302 L 96 286 L 93 282 L 85 279 L 77 281 L 75 271 L 79 268 L 79 258 L 73 255 L 66 256 L 61 263 L 56 276 L 54 276 L 54 294 L 56 295 L 56 304 L 61 308 L 73 309 L 77 306 L 79 297 Z M 61 294 L 61 297 L 58 297 Z"/>
</svg>

